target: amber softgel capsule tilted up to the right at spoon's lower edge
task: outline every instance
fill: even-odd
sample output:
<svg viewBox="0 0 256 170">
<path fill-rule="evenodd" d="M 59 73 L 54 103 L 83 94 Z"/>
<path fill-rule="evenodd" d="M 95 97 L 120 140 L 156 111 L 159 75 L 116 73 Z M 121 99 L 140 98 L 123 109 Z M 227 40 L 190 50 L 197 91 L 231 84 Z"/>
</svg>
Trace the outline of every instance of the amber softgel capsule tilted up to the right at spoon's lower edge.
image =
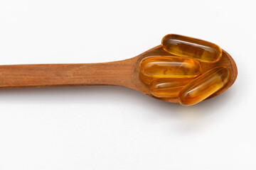
<svg viewBox="0 0 256 170">
<path fill-rule="evenodd" d="M 199 103 L 220 90 L 228 82 L 230 73 L 225 67 L 215 67 L 189 82 L 178 95 L 183 106 Z"/>
</svg>

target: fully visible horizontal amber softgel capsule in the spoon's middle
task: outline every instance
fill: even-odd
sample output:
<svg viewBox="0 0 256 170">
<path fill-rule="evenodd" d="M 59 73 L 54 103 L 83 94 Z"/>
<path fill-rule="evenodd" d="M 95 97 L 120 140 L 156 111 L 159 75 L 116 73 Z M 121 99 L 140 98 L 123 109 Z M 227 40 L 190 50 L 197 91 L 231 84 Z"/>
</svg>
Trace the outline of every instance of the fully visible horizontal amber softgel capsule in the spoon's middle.
<svg viewBox="0 0 256 170">
<path fill-rule="evenodd" d="M 189 78 L 201 74 L 201 65 L 192 58 L 146 57 L 139 65 L 141 74 L 154 78 Z"/>
</svg>

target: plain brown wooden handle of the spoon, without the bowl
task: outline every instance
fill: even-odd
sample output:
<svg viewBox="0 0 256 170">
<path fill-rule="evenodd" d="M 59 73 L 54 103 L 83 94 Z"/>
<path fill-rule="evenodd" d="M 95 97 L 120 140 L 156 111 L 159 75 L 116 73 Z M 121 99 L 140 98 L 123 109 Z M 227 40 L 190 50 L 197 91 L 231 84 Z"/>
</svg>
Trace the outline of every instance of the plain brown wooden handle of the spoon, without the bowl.
<svg viewBox="0 0 256 170">
<path fill-rule="evenodd" d="M 132 84 L 131 59 L 93 64 L 22 64 L 0 66 L 0 89 Z"/>
</svg>

